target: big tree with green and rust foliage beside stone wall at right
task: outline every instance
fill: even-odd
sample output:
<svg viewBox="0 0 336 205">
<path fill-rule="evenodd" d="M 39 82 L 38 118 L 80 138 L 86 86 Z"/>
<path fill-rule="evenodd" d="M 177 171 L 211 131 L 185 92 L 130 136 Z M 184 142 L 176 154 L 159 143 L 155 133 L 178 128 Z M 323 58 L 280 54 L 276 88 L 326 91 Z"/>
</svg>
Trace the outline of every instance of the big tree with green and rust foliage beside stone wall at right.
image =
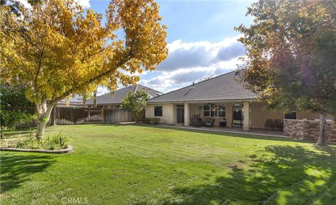
<svg viewBox="0 0 336 205">
<path fill-rule="evenodd" d="M 247 58 L 241 81 L 269 108 L 320 113 L 318 145 L 325 145 L 325 117 L 336 116 L 336 6 L 334 1 L 258 1 L 246 15 Z"/>
</svg>

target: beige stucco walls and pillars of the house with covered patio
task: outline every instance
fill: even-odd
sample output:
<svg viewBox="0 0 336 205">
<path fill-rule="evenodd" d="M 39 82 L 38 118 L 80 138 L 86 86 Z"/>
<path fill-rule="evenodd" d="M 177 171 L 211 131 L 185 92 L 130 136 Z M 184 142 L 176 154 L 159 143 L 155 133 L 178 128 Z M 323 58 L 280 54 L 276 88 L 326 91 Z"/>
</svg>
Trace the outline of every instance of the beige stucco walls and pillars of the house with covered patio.
<svg viewBox="0 0 336 205">
<path fill-rule="evenodd" d="M 207 103 L 188 103 L 188 104 L 148 104 L 146 106 L 146 118 L 160 118 L 160 123 L 168 125 L 176 125 L 176 105 L 184 105 L 188 107 L 188 111 L 185 110 L 185 122 L 189 118 L 193 118 L 194 115 L 200 115 L 200 118 L 204 119 L 203 106 Z M 232 127 L 232 106 L 235 104 L 241 104 L 244 108 L 244 129 L 248 128 L 265 128 L 265 122 L 267 119 L 280 119 L 283 120 L 284 114 L 275 111 L 267 111 L 266 104 L 262 104 L 256 101 L 237 101 L 237 102 L 216 102 L 214 104 L 225 105 L 225 118 L 227 127 Z M 154 116 L 154 106 L 162 106 L 162 117 Z M 247 116 L 247 118 L 246 118 Z M 215 126 L 219 126 L 219 123 L 223 121 L 223 117 L 211 117 L 215 119 Z M 318 113 L 309 112 L 297 112 L 297 119 L 314 120 L 318 118 Z M 246 125 L 248 123 L 248 125 Z M 186 122 L 189 125 L 189 122 Z"/>
</svg>

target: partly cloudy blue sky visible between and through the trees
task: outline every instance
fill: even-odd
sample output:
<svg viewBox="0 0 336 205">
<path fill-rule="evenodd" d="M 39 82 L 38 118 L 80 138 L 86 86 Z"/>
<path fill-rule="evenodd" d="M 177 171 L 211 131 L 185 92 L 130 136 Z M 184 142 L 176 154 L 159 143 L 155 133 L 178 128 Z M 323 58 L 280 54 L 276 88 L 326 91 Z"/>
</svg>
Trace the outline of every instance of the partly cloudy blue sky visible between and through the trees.
<svg viewBox="0 0 336 205">
<path fill-rule="evenodd" d="M 80 0 L 97 13 L 109 1 Z M 162 24 L 166 24 L 169 55 L 153 72 L 141 75 L 140 83 L 161 92 L 190 85 L 205 76 L 236 69 L 244 48 L 237 42 L 239 24 L 249 25 L 247 7 L 253 1 L 158 1 Z M 100 89 L 99 94 L 106 90 Z"/>
</svg>

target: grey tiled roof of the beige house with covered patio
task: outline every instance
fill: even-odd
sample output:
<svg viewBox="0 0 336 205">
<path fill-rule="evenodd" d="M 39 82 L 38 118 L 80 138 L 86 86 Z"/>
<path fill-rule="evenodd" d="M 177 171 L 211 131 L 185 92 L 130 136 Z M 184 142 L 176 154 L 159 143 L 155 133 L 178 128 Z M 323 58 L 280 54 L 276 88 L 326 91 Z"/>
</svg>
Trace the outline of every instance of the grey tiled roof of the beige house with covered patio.
<svg viewBox="0 0 336 205">
<path fill-rule="evenodd" d="M 154 97 L 148 103 L 183 102 L 183 101 L 218 101 L 258 98 L 246 90 L 237 80 L 239 73 L 232 71 L 221 76 L 204 80 L 195 85 Z"/>
</svg>

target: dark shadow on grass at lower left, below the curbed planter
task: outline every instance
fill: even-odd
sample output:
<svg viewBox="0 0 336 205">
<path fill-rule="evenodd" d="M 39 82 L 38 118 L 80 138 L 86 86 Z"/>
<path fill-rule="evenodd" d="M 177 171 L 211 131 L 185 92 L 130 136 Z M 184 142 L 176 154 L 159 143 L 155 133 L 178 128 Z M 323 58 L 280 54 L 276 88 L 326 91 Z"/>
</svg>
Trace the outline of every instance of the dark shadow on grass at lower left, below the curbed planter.
<svg viewBox="0 0 336 205">
<path fill-rule="evenodd" d="M 49 155 L 14 155 L 1 152 L 1 194 L 19 188 L 31 174 L 44 171 L 55 161 Z"/>
</svg>

